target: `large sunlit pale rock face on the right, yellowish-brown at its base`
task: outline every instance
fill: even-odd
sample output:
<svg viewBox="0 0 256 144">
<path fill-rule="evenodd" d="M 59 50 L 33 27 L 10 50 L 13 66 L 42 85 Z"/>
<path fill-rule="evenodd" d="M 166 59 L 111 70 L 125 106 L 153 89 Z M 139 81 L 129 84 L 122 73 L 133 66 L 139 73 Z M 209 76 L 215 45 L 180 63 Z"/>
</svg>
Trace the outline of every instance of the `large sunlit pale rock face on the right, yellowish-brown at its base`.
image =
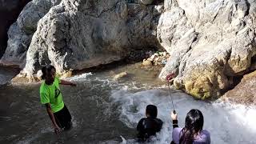
<svg viewBox="0 0 256 144">
<path fill-rule="evenodd" d="M 250 69 L 256 54 L 255 1 L 177 0 L 165 6 L 158 39 L 170 59 L 160 78 L 174 72 L 175 86 L 204 99 L 218 97 Z"/>
</svg>

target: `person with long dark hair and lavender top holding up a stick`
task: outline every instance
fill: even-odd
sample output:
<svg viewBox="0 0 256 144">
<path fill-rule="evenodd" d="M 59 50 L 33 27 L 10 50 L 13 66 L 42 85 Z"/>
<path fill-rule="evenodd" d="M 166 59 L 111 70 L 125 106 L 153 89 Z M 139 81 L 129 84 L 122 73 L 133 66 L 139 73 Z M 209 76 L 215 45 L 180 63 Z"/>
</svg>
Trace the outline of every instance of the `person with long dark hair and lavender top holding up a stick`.
<svg viewBox="0 0 256 144">
<path fill-rule="evenodd" d="M 171 113 L 174 128 L 171 144 L 210 144 L 210 133 L 202 130 L 203 115 L 200 110 L 192 109 L 186 114 L 184 128 L 178 127 L 177 117 L 177 113 Z"/>
</svg>

